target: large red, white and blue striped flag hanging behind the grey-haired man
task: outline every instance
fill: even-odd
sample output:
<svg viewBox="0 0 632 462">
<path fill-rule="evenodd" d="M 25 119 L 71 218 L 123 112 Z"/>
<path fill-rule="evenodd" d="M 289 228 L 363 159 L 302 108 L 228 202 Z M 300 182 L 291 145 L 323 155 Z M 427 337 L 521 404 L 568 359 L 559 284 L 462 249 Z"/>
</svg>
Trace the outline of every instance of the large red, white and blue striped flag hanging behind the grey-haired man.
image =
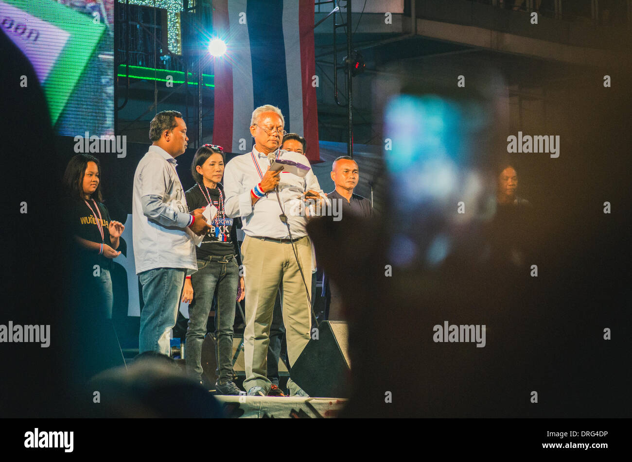
<svg viewBox="0 0 632 462">
<path fill-rule="evenodd" d="M 310 162 L 320 162 L 314 0 L 214 0 L 213 7 L 213 33 L 227 44 L 214 65 L 213 143 L 250 151 L 252 111 L 272 104 L 286 131 L 307 139 Z"/>
</svg>

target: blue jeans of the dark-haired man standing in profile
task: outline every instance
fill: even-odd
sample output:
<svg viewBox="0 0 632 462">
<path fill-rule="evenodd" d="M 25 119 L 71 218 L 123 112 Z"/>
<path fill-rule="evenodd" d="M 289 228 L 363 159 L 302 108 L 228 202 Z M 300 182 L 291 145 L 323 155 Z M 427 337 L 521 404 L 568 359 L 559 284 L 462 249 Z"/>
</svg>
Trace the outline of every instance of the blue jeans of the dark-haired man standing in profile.
<svg viewBox="0 0 632 462">
<path fill-rule="evenodd" d="M 159 352 L 169 356 L 169 331 L 176 325 L 185 268 L 154 268 L 138 275 L 145 306 L 140 312 L 138 352 Z"/>
</svg>

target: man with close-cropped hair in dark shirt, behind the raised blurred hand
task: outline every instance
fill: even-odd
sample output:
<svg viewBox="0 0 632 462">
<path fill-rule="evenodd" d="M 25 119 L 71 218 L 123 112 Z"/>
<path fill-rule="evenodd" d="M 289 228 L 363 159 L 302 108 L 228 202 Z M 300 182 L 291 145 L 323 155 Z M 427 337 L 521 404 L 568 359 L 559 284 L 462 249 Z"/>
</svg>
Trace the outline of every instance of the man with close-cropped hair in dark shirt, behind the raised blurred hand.
<svg viewBox="0 0 632 462">
<path fill-rule="evenodd" d="M 334 160 L 331 167 L 331 179 L 336 189 L 327 194 L 327 198 L 332 201 L 332 204 L 333 201 L 338 201 L 334 210 L 338 210 L 342 220 L 345 215 L 356 215 L 362 218 L 369 218 L 372 215 L 373 208 L 370 201 L 358 194 L 353 194 L 353 189 L 358 186 L 360 180 L 360 170 L 355 160 L 349 156 L 338 157 Z M 329 283 L 328 280 L 327 283 Z M 326 290 L 327 285 L 323 284 L 323 287 Z M 331 297 L 325 318 L 329 321 L 344 321 L 343 299 L 339 290 L 334 284 L 329 283 L 329 292 Z"/>
</svg>

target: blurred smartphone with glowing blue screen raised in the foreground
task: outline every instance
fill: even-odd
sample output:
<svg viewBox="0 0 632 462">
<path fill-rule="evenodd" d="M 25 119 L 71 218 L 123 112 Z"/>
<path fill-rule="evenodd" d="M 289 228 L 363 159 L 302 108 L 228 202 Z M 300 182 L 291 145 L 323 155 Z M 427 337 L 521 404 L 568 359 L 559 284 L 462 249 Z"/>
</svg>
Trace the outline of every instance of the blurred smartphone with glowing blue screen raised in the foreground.
<svg viewBox="0 0 632 462">
<path fill-rule="evenodd" d="M 475 218 L 493 198 L 481 169 L 493 149 L 491 108 L 480 95 L 453 90 L 403 93 L 387 103 L 387 228 L 396 264 L 426 261 L 432 246 L 431 257 L 441 259 L 451 224 Z"/>
</svg>

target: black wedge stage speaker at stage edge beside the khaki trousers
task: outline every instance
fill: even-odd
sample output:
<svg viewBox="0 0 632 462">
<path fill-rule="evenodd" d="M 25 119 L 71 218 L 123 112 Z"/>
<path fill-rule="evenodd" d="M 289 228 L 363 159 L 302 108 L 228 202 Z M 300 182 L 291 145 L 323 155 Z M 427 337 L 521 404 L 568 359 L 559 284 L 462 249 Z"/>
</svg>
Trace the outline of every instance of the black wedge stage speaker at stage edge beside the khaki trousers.
<svg viewBox="0 0 632 462">
<path fill-rule="evenodd" d="M 317 335 L 316 335 L 317 334 Z M 305 393 L 348 398 L 348 329 L 343 321 L 323 321 L 296 360 L 289 376 Z"/>
</svg>

